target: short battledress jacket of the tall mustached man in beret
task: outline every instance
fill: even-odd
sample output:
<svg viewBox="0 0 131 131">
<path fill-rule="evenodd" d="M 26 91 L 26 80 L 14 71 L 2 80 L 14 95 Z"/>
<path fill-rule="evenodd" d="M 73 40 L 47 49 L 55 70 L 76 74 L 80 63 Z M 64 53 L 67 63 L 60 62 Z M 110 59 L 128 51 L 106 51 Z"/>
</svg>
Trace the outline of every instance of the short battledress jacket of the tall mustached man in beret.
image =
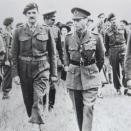
<svg viewBox="0 0 131 131">
<path fill-rule="evenodd" d="M 18 75 L 19 57 L 47 57 L 51 76 L 57 76 L 56 44 L 49 27 L 37 25 L 32 33 L 28 24 L 15 30 L 12 43 L 13 76 Z"/>
</svg>

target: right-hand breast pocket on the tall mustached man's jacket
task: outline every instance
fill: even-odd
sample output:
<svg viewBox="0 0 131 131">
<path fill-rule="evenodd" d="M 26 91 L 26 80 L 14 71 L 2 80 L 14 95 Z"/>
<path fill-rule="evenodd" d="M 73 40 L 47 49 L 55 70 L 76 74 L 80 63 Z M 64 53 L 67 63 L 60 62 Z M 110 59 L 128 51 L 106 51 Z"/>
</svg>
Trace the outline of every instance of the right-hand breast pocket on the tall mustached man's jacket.
<svg viewBox="0 0 131 131">
<path fill-rule="evenodd" d="M 46 50 L 47 40 L 49 39 L 47 34 L 38 34 L 36 36 L 36 43 L 39 50 Z"/>
</svg>

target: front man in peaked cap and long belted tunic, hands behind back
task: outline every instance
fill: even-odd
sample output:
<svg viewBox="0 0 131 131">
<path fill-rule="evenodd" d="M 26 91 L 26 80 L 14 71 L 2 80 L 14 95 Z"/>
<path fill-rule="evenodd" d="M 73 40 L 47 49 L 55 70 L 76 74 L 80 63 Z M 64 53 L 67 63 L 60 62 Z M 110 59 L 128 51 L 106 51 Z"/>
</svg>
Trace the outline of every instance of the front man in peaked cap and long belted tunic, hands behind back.
<svg viewBox="0 0 131 131">
<path fill-rule="evenodd" d="M 76 112 L 79 131 L 91 131 L 94 102 L 101 85 L 99 71 L 104 63 L 104 47 L 101 36 L 86 30 L 90 13 L 81 8 L 73 8 L 71 12 L 75 31 L 65 39 L 66 86 Z"/>
</svg>

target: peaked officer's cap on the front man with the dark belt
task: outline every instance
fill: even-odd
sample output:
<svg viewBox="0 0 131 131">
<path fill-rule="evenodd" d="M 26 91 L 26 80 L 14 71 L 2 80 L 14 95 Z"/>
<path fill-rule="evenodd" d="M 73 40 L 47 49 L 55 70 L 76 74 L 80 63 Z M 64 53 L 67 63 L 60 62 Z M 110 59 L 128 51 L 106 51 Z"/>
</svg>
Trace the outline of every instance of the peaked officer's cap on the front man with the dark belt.
<svg viewBox="0 0 131 131">
<path fill-rule="evenodd" d="M 73 14 L 73 19 L 83 19 L 91 15 L 90 12 L 77 7 L 73 8 L 71 12 Z"/>
</svg>

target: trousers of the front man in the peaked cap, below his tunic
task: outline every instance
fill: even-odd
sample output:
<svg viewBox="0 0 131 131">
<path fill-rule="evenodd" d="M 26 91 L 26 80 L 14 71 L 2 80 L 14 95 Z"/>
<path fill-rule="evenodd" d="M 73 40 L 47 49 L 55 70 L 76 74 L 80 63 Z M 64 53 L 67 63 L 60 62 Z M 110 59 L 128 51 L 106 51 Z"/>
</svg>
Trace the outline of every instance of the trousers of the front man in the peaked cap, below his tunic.
<svg viewBox="0 0 131 131">
<path fill-rule="evenodd" d="M 91 131 L 93 121 L 93 108 L 97 97 L 98 88 L 88 90 L 69 89 L 73 103 L 79 131 Z"/>
</svg>

